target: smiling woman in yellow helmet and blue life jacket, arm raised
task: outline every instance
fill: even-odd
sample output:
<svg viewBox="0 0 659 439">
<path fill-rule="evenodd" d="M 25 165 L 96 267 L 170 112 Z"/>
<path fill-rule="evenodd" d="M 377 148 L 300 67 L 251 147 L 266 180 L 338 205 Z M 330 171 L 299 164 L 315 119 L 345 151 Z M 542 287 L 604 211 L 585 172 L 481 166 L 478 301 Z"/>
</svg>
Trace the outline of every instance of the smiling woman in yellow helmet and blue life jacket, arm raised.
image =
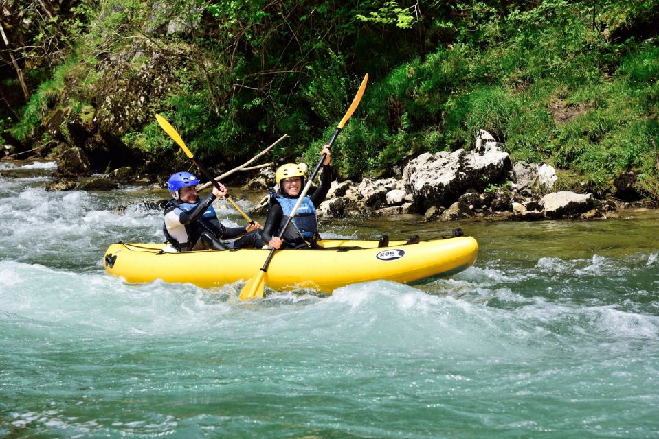
<svg viewBox="0 0 659 439">
<path fill-rule="evenodd" d="M 298 201 L 298 195 L 304 189 L 305 171 L 295 163 L 287 163 L 277 169 L 275 179 L 279 188 L 270 193 L 270 209 L 261 232 L 264 243 L 269 247 L 280 248 L 283 244 L 286 248 L 315 248 L 315 242 L 320 239 L 316 208 L 325 200 L 332 185 L 329 147 L 325 145 L 320 154 L 327 154 L 323 162 L 320 187 L 304 197 L 291 224 L 284 230 L 283 242 L 278 236 Z"/>
</svg>

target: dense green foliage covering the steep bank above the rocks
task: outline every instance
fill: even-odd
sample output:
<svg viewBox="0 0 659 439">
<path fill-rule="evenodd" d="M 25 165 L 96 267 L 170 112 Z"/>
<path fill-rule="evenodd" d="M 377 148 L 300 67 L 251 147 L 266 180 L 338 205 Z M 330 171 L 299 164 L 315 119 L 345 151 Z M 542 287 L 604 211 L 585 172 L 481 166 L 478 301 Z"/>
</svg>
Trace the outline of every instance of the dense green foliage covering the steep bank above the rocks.
<svg viewBox="0 0 659 439">
<path fill-rule="evenodd" d="M 48 141 L 38 125 L 60 108 L 173 154 L 153 120 L 161 112 L 203 158 L 241 160 L 288 133 L 275 158 L 315 162 L 368 72 L 335 147 L 344 178 L 469 148 L 483 128 L 515 160 L 565 170 L 565 187 L 605 191 L 633 170 L 659 197 L 659 0 L 5 3 L 16 18 L 3 27 L 20 29 L 3 46 L 5 139 Z M 116 93 L 140 108 L 122 123 L 108 104 Z"/>
</svg>

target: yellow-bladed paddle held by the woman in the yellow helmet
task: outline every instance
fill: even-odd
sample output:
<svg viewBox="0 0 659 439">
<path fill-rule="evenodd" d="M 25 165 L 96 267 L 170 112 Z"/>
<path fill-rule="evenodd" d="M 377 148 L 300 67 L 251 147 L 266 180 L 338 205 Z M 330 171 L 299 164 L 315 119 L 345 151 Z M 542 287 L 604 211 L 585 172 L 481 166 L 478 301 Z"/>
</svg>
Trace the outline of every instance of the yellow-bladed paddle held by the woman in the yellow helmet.
<svg viewBox="0 0 659 439">
<path fill-rule="evenodd" d="M 346 122 L 348 122 L 348 119 L 350 119 L 350 116 L 353 115 L 353 112 L 357 110 L 357 106 L 359 105 L 359 102 L 361 101 L 361 96 L 364 95 L 364 89 L 366 89 L 366 82 L 368 81 L 368 73 L 364 75 L 364 79 L 361 80 L 361 85 L 359 86 L 359 90 L 357 90 L 357 94 L 355 95 L 355 98 L 353 99 L 353 103 L 350 104 L 350 108 L 348 108 L 348 112 L 346 112 L 346 115 L 341 119 L 339 122 L 339 126 L 337 126 L 337 129 L 334 131 L 334 134 L 332 136 L 332 139 L 330 140 L 330 143 L 328 143 L 327 147 L 331 148 L 332 145 L 334 144 L 334 141 L 336 140 L 337 136 L 339 135 L 339 132 L 343 130 L 343 127 L 346 125 Z M 311 182 L 315 178 L 316 174 L 318 174 L 318 171 L 320 171 L 320 167 L 322 166 L 323 162 L 325 161 L 327 154 L 323 154 L 322 157 L 320 158 L 320 161 L 316 165 L 315 169 L 313 169 L 313 173 L 311 174 L 311 177 L 309 180 L 306 181 L 306 185 L 304 185 L 304 189 L 302 189 L 302 192 L 300 192 L 300 195 L 298 195 L 298 202 L 295 203 L 295 206 L 293 206 L 293 210 L 291 211 L 288 219 L 284 223 L 284 227 L 282 228 L 282 231 L 279 233 L 279 238 L 284 235 L 284 232 L 286 231 L 286 228 L 291 224 L 291 221 L 293 220 L 293 217 L 295 216 L 295 212 L 298 211 L 298 207 L 300 207 L 300 204 L 302 204 L 302 200 L 304 200 L 304 197 L 306 196 L 306 193 L 309 192 L 309 188 L 311 187 Z M 265 259 L 265 263 L 263 264 L 263 267 L 258 271 L 256 276 L 253 278 L 249 279 L 247 281 L 247 284 L 241 289 L 241 294 L 240 294 L 240 299 L 241 300 L 252 300 L 253 298 L 261 298 L 263 297 L 263 289 L 265 287 L 265 273 L 268 271 L 268 265 L 270 265 L 270 261 L 272 260 L 272 257 L 275 253 L 275 249 L 271 249 L 267 259 Z"/>
</svg>

